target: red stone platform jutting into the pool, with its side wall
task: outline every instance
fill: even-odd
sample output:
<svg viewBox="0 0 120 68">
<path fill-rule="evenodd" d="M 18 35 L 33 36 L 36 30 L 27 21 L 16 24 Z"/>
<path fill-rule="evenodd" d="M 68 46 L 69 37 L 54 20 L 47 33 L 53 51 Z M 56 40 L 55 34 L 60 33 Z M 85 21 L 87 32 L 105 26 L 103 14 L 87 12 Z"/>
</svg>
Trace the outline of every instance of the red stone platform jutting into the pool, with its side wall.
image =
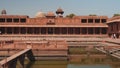
<svg viewBox="0 0 120 68">
<path fill-rule="evenodd" d="M 1 41 L 1 56 L 13 55 L 16 51 L 31 48 L 33 54 L 38 60 L 61 59 L 67 60 L 68 45 L 65 40 L 41 40 L 41 41 Z M 9 53 L 9 54 L 8 54 Z"/>
</svg>

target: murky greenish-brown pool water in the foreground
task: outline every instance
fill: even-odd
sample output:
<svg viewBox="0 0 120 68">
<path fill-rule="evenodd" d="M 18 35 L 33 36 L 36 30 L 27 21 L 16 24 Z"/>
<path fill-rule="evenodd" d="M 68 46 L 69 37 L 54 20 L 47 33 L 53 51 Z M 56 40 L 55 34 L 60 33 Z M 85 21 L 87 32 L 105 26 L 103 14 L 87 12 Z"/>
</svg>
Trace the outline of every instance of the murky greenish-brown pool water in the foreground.
<svg viewBox="0 0 120 68">
<path fill-rule="evenodd" d="M 26 61 L 25 64 L 25 68 L 120 68 L 120 60 L 106 55 L 73 55 L 69 61 Z"/>
</svg>

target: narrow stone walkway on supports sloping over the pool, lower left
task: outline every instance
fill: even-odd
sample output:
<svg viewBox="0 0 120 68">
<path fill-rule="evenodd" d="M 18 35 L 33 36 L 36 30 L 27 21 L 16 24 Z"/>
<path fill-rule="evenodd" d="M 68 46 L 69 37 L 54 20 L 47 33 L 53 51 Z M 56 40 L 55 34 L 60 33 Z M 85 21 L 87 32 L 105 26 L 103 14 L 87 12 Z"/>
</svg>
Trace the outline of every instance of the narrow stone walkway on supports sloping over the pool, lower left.
<svg viewBox="0 0 120 68">
<path fill-rule="evenodd" d="M 8 58 L 0 61 L 0 68 L 16 68 L 17 61 L 20 62 L 22 68 L 24 68 L 24 59 L 27 57 L 30 61 L 35 61 L 32 53 L 32 49 L 28 48 L 20 51 Z"/>
</svg>

